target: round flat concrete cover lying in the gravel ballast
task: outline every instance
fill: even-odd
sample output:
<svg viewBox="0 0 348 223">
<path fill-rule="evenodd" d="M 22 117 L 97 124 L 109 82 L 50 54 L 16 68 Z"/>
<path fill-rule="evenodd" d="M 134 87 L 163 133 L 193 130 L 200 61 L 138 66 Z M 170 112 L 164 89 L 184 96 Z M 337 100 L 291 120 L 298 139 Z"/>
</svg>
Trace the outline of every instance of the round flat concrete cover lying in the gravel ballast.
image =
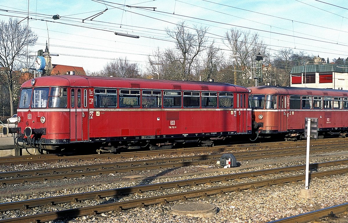
<svg viewBox="0 0 348 223">
<path fill-rule="evenodd" d="M 217 208 L 211 204 L 187 203 L 171 207 L 172 214 L 192 217 L 211 217 L 217 214 Z"/>
</svg>

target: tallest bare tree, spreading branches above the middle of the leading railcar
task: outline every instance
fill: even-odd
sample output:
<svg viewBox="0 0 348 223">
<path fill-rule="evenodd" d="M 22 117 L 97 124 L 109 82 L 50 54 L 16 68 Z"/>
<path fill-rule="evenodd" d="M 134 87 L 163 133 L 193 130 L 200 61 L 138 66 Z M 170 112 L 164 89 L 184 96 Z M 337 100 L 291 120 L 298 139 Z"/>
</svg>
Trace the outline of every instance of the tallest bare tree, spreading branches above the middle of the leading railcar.
<svg viewBox="0 0 348 223">
<path fill-rule="evenodd" d="M 171 63 L 179 64 L 180 79 L 190 80 L 192 79 L 192 66 L 194 65 L 197 56 L 204 50 L 204 44 L 207 41 L 206 32 L 207 27 L 196 27 L 195 33 L 191 33 L 189 28 L 186 27 L 185 22 L 179 22 L 173 30 L 166 28 L 166 32 L 169 36 L 175 39 L 176 52 L 173 53 Z"/>
</svg>

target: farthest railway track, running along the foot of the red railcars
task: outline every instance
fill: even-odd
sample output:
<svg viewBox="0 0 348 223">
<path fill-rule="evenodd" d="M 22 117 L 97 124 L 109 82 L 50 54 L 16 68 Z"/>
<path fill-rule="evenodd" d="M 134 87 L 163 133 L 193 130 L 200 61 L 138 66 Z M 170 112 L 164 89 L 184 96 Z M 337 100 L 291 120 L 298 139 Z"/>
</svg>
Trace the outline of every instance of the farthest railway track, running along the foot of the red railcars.
<svg viewBox="0 0 348 223">
<path fill-rule="evenodd" d="M 312 140 L 311 148 L 330 146 L 330 148 L 345 148 L 346 139 L 323 139 Z M 0 157 L 0 164 L 2 165 L 17 165 L 17 164 L 34 164 L 34 163 L 51 163 L 51 162 L 65 162 L 65 161 L 87 161 L 94 159 L 117 159 L 117 158 L 137 158 L 137 157 L 153 157 L 159 155 L 182 155 L 190 153 L 228 153 L 235 154 L 239 151 L 250 151 L 257 153 L 259 150 L 272 148 L 306 148 L 306 141 L 285 141 L 285 142 L 266 142 L 266 143 L 250 143 L 250 144 L 235 144 L 229 146 L 215 146 L 215 147 L 195 147 L 184 149 L 167 149 L 155 151 L 132 151 L 122 152 L 120 154 L 100 154 L 100 155 L 74 155 L 67 154 L 47 154 L 47 155 L 32 155 L 32 156 L 18 156 L 18 157 Z"/>
</svg>

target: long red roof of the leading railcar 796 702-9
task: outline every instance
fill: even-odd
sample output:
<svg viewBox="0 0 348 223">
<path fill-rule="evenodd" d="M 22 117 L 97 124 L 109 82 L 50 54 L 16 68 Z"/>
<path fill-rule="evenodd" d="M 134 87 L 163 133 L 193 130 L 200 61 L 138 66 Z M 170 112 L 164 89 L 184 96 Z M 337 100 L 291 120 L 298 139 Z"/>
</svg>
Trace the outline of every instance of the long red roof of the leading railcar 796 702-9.
<svg viewBox="0 0 348 223">
<path fill-rule="evenodd" d="M 81 86 L 100 88 L 137 88 L 137 89 L 168 89 L 168 90 L 197 90 L 197 91 L 237 91 L 248 92 L 243 86 L 200 81 L 172 81 L 133 79 L 121 77 L 100 77 L 80 75 L 55 75 L 35 78 L 34 86 Z M 30 81 L 26 81 L 23 88 L 32 87 Z"/>
</svg>

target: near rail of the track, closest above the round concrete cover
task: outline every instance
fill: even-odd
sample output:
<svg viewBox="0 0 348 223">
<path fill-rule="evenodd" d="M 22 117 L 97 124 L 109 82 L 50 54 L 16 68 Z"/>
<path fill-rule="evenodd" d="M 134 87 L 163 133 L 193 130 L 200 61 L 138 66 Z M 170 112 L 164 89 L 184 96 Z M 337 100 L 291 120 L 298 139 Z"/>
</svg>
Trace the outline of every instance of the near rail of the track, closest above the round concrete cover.
<svg viewBox="0 0 348 223">
<path fill-rule="evenodd" d="M 311 173 L 310 179 L 315 177 L 327 176 L 327 175 L 343 174 L 347 172 L 348 172 L 348 168 L 341 168 L 338 170 Z M 162 196 L 155 196 L 155 197 L 149 197 L 149 198 L 120 201 L 120 202 L 110 203 L 110 204 L 101 204 L 101 205 L 87 206 L 87 207 L 81 207 L 81 208 L 66 209 L 66 210 L 60 210 L 57 212 L 48 212 L 48 213 L 28 215 L 23 217 L 8 218 L 8 219 L 0 220 L 0 222 L 16 222 L 16 223 L 47 222 L 47 221 L 58 220 L 64 217 L 71 218 L 71 217 L 79 217 L 79 216 L 86 216 L 86 215 L 96 215 L 96 214 L 101 214 L 101 213 L 110 212 L 110 211 L 120 211 L 122 209 L 143 207 L 143 206 L 149 206 L 149 205 L 155 205 L 155 204 L 161 204 L 161 203 L 165 204 L 172 201 L 186 200 L 186 199 L 198 198 L 198 197 L 206 197 L 206 196 L 212 196 L 212 195 L 228 193 L 228 192 L 233 192 L 238 190 L 247 190 L 247 189 L 259 188 L 259 187 L 266 187 L 270 185 L 276 185 L 276 184 L 290 183 L 290 182 L 304 180 L 304 178 L 305 178 L 305 174 L 297 175 L 297 176 L 280 177 L 276 179 L 240 183 L 236 185 L 228 185 L 228 186 L 221 186 L 221 187 L 215 187 L 215 188 L 174 193 L 170 195 L 162 195 Z M 158 188 L 158 189 L 161 189 L 161 188 Z"/>
</svg>

